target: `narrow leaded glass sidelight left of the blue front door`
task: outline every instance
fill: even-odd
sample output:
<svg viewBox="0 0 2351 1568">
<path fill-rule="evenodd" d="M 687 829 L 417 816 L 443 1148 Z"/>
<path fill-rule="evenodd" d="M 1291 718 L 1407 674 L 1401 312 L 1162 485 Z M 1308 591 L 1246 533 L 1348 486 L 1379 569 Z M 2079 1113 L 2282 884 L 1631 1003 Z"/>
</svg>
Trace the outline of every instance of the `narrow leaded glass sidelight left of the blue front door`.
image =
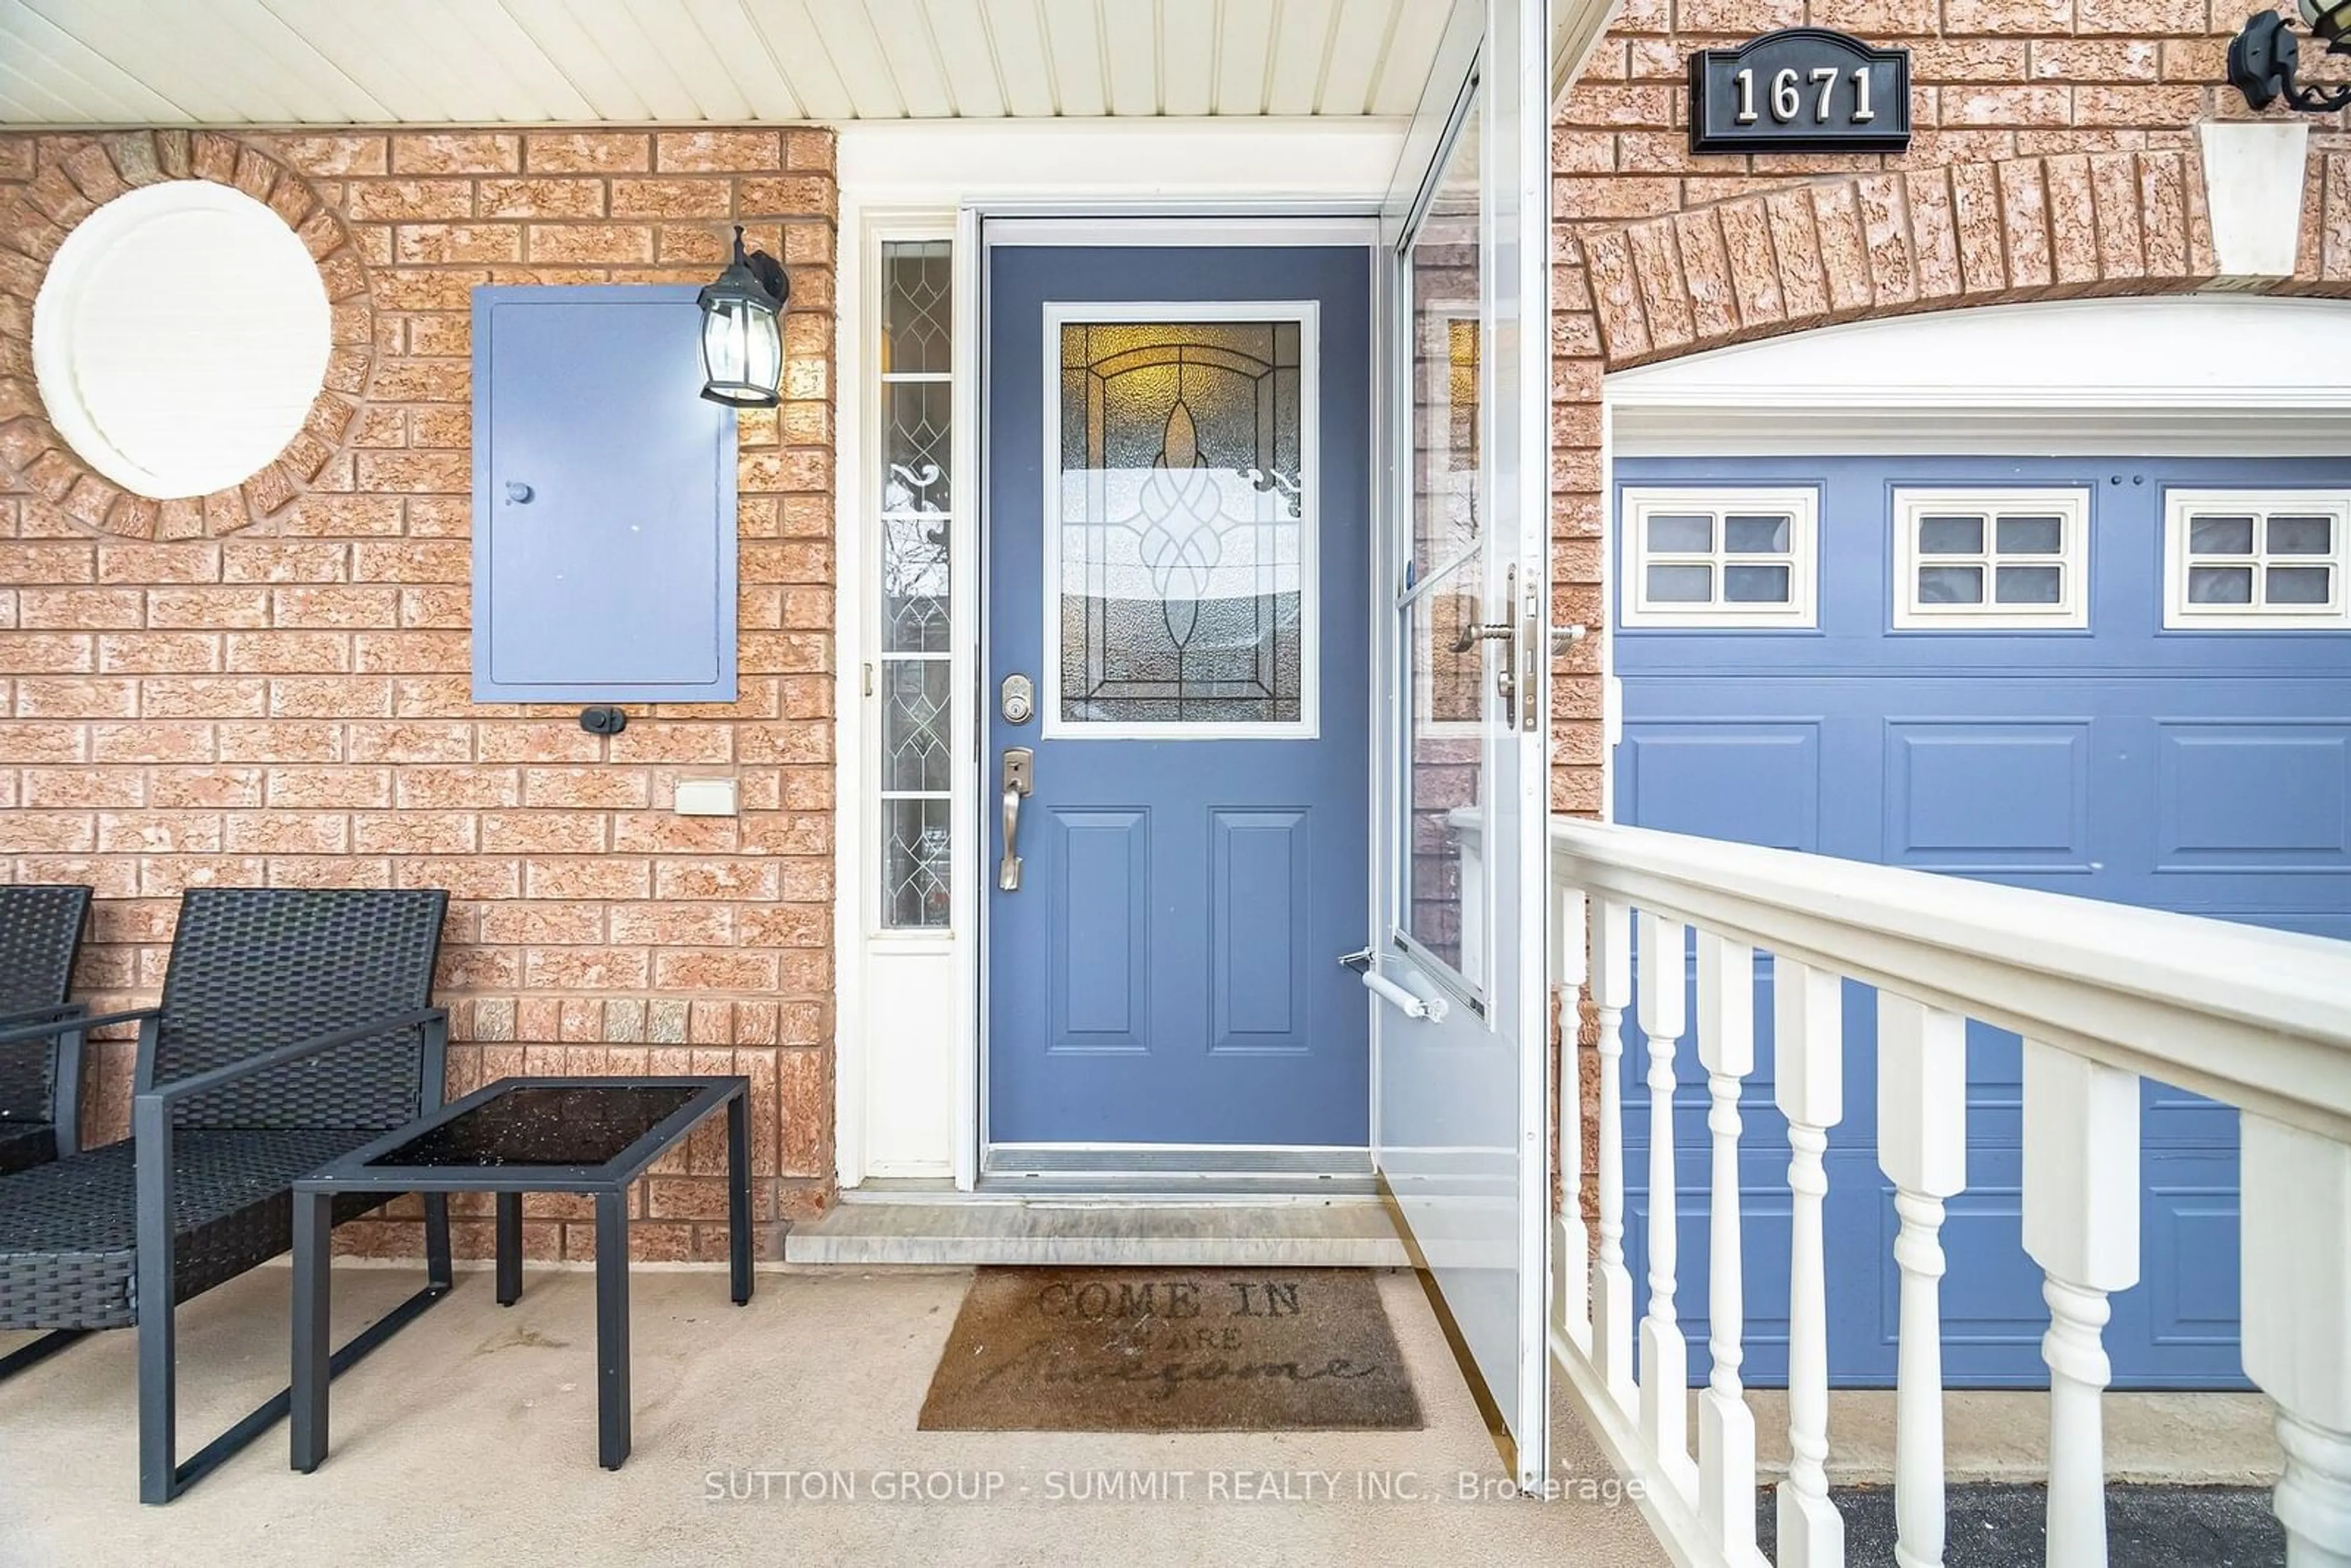
<svg viewBox="0 0 2351 1568">
<path fill-rule="evenodd" d="M 882 924 L 952 917 L 955 270 L 947 240 L 882 244 Z"/>
</svg>

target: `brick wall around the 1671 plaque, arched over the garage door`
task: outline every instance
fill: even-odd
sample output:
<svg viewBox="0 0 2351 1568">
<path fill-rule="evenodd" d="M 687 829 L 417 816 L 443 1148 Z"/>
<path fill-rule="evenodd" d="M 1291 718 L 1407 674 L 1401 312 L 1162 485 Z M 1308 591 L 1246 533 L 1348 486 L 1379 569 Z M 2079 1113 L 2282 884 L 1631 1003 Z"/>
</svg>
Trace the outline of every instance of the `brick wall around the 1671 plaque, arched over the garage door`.
<svg viewBox="0 0 2351 1568">
<path fill-rule="evenodd" d="M 1869 315 L 2208 282 L 2193 127 L 2248 113 L 2224 85 L 2248 9 L 1625 0 L 1552 127 L 1552 618 L 1606 623 L 1606 371 Z M 1911 49 L 1911 148 L 1693 158 L 1688 56 L 1803 24 Z M 2299 275 L 2278 289 L 2351 296 L 2351 115 L 2313 125 Z M 1601 806 L 1599 651 L 1554 665 L 1554 811 Z M 1582 1081 L 1594 1171 L 1596 1067 Z"/>
</svg>

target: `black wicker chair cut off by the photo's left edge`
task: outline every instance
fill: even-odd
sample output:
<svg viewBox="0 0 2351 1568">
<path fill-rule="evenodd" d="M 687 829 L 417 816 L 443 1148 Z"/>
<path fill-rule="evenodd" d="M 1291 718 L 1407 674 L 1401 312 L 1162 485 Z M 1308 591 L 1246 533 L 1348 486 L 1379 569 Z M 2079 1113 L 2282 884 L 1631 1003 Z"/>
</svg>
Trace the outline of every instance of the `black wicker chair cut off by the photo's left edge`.
<svg viewBox="0 0 2351 1568">
<path fill-rule="evenodd" d="M 87 917 L 85 886 L 0 886 L 0 1030 L 52 1030 L 0 1046 L 0 1175 L 75 1150 L 87 1009 L 66 992 Z"/>
</svg>

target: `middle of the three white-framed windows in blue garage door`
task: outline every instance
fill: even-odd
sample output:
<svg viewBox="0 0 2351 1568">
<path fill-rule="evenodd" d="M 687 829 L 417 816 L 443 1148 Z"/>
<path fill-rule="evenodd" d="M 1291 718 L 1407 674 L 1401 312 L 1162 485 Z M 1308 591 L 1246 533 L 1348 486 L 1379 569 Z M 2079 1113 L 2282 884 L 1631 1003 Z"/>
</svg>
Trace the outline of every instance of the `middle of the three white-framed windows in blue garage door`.
<svg viewBox="0 0 2351 1568">
<path fill-rule="evenodd" d="M 1895 630 L 2090 625 L 2085 489 L 1897 489 Z"/>
</svg>

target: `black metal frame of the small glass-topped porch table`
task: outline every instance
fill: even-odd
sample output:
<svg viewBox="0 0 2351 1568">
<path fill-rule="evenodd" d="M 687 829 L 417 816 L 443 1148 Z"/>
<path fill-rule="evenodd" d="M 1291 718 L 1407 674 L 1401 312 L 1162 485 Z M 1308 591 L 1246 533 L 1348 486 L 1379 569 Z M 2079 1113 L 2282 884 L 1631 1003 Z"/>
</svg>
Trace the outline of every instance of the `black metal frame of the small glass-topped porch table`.
<svg viewBox="0 0 2351 1568">
<path fill-rule="evenodd" d="M 696 1088 L 691 1100 L 637 1135 L 600 1166 L 369 1166 L 367 1161 L 480 1110 L 515 1088 Z M 522 1298 L 522 1194 L 574 1192 L 595 1199 L 595 1340 L 597 1340 L 597 1462 L 621 1469 L 630 1450 L 628 1403 L 628 1187 L 703 1117 L 726 1107 L 726 1265 L 734 1302 L 750 1302 L 750 1079 L 745 1077 L 628 1077 L 534 1079 L 487 1084 L 440 1112 L 320 1166 L 294 1182 L 294 1385 L 292 1462 L 310 1474 L 327 1458 L 329 1385 L 329 1229 L 339 1192 L 491 1192 L 498 1204 L 498 1305 Z"/>
</svg>

